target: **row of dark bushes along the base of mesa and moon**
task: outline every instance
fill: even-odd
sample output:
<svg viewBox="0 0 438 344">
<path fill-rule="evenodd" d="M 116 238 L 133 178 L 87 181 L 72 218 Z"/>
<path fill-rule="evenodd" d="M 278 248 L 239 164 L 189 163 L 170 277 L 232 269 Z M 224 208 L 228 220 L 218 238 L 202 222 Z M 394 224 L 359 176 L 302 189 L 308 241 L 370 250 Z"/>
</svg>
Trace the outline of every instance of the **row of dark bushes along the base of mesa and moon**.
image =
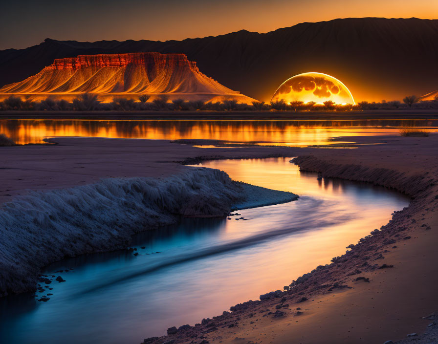
<svg viewBox="0 0 438 344">
<path fill-rule="evenodd" d="M 360 110 L 396 110 L 396 109 L 438 109 L 438 97 L 430 101 L 419 101 L 414 95 L 406 96 L 403 101 L 385 101 L 376 102 L 359 102 L 357 104 L 336 104 L 332 101 L 325 101 L 323 104 L 314 102 L 293 101 L 286 103 L 283 99 L 280 101 L 265 104 L 264 102 L 254 101 L 251 105 L 240 104 L 236 100 L 224 100 L 222 102 L 202 101 L 184 101 L 175 99 L 170 101 L 165 95 L 154 98 L 151 102 L 151 96 L 143 94 L 138 97 L 138 101 L 123 97 L 114 97 L 110 103 L 102 103 L 98 100 L 97 94 L 83 93 L 72 102 L 64 99 L 55 100 L 47 97 L 42 101 L 33 101 L 30 98 L 22 100 L 18 96 L 10 96 L 0 102 L 0 110 L 22 110 L 22 111 L 360 111 Z"/>
</svg>

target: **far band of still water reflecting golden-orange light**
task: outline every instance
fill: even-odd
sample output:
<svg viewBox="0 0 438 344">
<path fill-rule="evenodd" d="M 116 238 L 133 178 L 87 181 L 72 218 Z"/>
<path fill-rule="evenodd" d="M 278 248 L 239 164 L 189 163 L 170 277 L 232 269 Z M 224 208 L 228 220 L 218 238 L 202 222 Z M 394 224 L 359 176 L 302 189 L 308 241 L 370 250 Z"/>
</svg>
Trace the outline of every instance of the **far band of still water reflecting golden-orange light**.
<svg viewBox="0 0 438 344">
<path fill-rule="evenodd" d="M 146 139 L 215 139 L 305 147 L 332 143 L 332 137 L 398 135 L 401 127 L 436 130 L 437 120 L 344 121 L 98 121 L 0 120 L 0 134 L 18 144 L 45 137 L 85 136 Z"/>
</svg>

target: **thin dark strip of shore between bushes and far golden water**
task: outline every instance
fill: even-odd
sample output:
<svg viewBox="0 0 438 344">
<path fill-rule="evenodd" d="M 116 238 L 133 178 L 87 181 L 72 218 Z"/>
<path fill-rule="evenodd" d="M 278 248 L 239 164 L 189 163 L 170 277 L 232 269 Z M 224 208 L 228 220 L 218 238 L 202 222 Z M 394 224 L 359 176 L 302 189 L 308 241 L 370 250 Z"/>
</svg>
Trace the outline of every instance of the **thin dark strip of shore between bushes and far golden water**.
<svg viewBox="0 0 438 344">
<path fill-rule="evenodd" d="M 77 120 L 434 120 L 438 110 L 366 111 L 1 111 L 0 119 Z"/>
</svg>

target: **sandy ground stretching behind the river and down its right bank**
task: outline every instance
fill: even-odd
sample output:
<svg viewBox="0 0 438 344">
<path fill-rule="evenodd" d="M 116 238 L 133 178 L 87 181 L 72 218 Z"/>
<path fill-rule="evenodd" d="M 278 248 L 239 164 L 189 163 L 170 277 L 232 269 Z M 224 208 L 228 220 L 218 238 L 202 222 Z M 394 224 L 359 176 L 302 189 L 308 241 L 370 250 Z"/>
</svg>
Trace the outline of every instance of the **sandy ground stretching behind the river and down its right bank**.
<svg viewBox="0 0 438 344">
<path fill-rule="evenodd" d="M 394 188 L 412 197 L 410 206 L 395 213 L 380 231 L 353 245 L 348 254 L 335 258 L 333 264 L 301 279 L 290 276 L 298 282 L 273 298 L 246 302 L 214 320 L 200 321 L 146 343 L 368 344 L 400 340 L 409 333 L 422 333 L 432 321 L 421 317 L 438 309 L 438 135 L 353 140 L 382 145 L 200 149 L 158 140 L 62 138 L 56 139 L 56 146 L 1 148 L 0 202 L 28 194 L 28 189 L 67 188 L 106 177 L 165 177 L 188 169 L 176 163 L 184 160 L 270 156 L 298 156 L 296 162 L 305 171 Z M 344 251 L 339 248 L 340 256 Z M 394 267 L 385 268 L 384 264 Z M 358 277 L 369 282 L 355 281 Z M 169 327 L 173 325 L 181 324 Z"/>
</svg>

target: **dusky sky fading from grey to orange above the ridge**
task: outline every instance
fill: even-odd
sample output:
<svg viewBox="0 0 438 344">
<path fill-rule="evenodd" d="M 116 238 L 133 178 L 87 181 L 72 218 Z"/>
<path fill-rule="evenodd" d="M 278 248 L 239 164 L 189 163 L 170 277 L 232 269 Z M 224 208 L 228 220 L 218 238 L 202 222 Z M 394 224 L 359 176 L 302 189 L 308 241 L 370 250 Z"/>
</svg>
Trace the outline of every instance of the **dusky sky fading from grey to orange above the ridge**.
<svg viewBox="0 0 438 344">
<path fill-rule="evenodd" d="M 437 0 L 15 0 L 2 4 L 0 50 L 55 40 L 183 40 L 268 32 L 336 18 L 437 19 Z"/>
</svg>

